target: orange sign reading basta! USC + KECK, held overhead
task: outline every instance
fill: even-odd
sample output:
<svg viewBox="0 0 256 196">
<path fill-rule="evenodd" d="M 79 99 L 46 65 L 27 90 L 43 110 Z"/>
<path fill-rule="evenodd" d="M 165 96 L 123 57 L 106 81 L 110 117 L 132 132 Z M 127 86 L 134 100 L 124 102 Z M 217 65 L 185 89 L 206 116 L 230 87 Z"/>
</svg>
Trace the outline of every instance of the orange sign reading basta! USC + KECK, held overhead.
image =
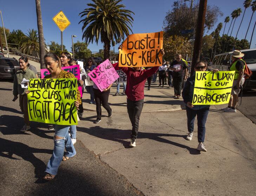
<svg viewBox="0 0 256 196">
<path fill-rule="evenodd" d="M 161 66 L 163 31 L 129 35 L 119 50 L 119 67 Z"/>
</svg>

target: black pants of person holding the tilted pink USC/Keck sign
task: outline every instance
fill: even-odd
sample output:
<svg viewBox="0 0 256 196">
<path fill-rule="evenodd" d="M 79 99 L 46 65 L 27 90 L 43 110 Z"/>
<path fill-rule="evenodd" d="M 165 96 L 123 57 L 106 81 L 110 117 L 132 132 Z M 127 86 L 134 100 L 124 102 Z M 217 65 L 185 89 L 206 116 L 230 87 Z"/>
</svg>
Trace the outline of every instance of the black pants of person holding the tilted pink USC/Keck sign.
<svg viewBox="0 0 256 196">
<path fill-rule="evenodd" d="M 93 88 L 93 93 L 94 93 L 94 99 L 96 102 L 97 120 L 101 120 L 101 106 L 100 106 L 101 104 L 106 109 L 108 114 L 110 114 L 112 110 L 108 103 L 110 89 L 108 91 L 101 92 L 99 89 Z"/>
</svg>

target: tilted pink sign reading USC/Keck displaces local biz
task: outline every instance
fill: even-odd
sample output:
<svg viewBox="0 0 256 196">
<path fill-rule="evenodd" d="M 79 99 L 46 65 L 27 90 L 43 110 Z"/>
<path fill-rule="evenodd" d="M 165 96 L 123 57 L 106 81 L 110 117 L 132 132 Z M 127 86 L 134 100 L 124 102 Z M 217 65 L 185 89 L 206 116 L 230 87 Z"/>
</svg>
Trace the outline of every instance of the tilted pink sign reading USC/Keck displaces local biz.
<svg viewBox="0 0 256 196">
<path fill-rule="evenodd" d="M 101 92 L 119 78 L 117 71 L 113 68 L 109 59 L 99 64 L 97 69 L 88 73 L 88 76 L 98 86 Z"/>
</svg>

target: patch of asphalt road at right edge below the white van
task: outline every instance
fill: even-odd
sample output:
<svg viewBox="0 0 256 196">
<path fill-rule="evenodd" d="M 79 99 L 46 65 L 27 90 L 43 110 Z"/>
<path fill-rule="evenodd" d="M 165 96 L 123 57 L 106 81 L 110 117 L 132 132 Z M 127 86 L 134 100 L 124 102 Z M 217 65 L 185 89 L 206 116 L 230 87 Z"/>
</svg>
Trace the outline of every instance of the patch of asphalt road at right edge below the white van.
<svg viewBox="0 0 256 196">
<path fill-rule="evenodd" d="M 243 91 L 242 103 L 239 98 L 237 109 L 256 124 L 256 89 Z"/>
</svg>

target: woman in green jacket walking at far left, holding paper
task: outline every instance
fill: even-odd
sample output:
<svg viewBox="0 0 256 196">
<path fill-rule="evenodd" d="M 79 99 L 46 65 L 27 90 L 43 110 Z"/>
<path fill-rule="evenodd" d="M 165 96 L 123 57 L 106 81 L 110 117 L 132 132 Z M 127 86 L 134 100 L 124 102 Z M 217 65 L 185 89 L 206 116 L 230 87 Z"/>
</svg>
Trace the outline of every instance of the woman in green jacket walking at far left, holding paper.
<svg viewBox="0 0 256 196">
<path fill-rule="evenodd" d="M 27 88 L 22 88 L 21 87 L 21 81 L 25 78 L 26 80 L 32 79 L 32 78 L 37 78 L 35 76 L 35 73 L 28 69 L 28 62 L 24 61 L 25 57 L 20 57 L 19 58 L 19 64 L 20 64 L 20 69 L 17 71 L 17 73 L 14 76 L 14 81 L 13 81 L 13 101 L 18 99 L 18 94 L 19 94 L 19 100 L 20 100 L 20 109 L 24 113 L 24 121 L 25 125 L 22 127 L 20 130 L 21 132 L 28 131 L 30 129 L 30 122 L 28 118 L 28 110 L 27 110 Z"/>
</svg>

